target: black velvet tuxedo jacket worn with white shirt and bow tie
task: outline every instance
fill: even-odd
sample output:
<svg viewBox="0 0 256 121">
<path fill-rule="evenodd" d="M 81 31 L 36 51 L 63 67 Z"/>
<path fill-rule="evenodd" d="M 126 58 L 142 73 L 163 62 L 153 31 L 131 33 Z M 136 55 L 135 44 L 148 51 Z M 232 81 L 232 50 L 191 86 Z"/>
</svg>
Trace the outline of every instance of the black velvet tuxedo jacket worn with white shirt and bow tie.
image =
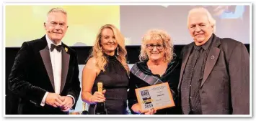
<svg viewBox="0 0 256 121">
<path fill-rule="evenodd" d="M 77 56 L 74 49 L 62 45 L 60 95 L 72 95 L 76 102 L 81 91 Z M 53 69 L 45 36 L 22 44 L 9 75 L 9 89 L 20 97 L 18 114 L 67 114 L 58 107 L 40 106 L 45 92 L 54 92 Z M 72 108 L 75 106 L 76 103 Z"/>
</svg>

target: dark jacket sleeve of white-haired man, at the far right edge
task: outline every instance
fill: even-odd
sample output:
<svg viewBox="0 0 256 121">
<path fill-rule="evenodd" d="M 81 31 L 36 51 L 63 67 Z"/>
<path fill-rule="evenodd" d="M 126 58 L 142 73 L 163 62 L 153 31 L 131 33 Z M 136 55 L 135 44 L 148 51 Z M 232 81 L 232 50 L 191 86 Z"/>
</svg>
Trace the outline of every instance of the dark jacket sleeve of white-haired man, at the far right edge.
<svg viewBox="0 0 256 121">
<path fill-rule="evenodd" d="M 250 57 L 244 44 L 234 47 L 229 59 L 233 115 L 250 114 Z"/>
</svg>

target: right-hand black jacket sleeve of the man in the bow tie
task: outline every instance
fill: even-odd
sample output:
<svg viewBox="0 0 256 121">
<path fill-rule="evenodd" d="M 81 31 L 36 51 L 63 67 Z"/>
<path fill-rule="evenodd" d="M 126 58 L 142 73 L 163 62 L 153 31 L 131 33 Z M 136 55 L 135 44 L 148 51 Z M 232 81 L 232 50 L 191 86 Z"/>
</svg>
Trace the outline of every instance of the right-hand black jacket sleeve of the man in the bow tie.
<svg viewBox="0 0 256 121">
<path fill-rule="evenodd" d="M 81 87 L 80 87 L 80 81 L 79 81 L 79 67 L 78 67 L 78 62 L 77 62 L 77 55 L 75 53 L 74 55 L 75 57 L 75 61 L 74 61 L 74 74 L 72 80 L 71 80 L 71 84 L 70 87 L 68 89 L 68 94 L 67 95 L 72 95 L 75 99 L 74 105 L 72 107 L 72 109 L 75 109 L 76 107 L 76 102 L 79 98 L 80 95 L 80 91 L 81 91 Z"/>
</svg>

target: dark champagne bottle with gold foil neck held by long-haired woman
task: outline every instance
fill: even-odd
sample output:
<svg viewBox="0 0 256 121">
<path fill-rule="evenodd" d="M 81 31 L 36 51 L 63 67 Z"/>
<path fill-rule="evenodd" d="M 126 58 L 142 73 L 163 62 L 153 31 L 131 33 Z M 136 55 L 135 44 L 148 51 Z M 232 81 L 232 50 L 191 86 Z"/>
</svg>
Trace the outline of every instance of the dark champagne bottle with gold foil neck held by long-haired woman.
<svg viewBox="0 0 256 121">
<path fill-rule="evenodd" d="M 102 82 L 98 82 L 97 87 L 98 87 L 98 92 L 102 92 L 102 88 L 103 88 Z M 105 102 L 97 102 L 95 107 L 95 115 L 107 115 Z"/>
</svg>

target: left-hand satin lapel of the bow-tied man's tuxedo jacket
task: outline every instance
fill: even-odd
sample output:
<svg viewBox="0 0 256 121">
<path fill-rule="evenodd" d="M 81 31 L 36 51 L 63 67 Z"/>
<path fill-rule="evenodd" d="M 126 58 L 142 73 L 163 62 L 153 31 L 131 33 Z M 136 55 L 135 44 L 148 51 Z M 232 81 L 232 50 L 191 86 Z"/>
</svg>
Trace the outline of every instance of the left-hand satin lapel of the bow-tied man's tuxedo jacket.
<svg viewBox="0 0 256 121">
<path fill-rule="evenodd" d="M 52 84 L 54 89 L 53 67 L 50 61 L 49 47 L 47 45 L 44 49 L 40 50 L 40 55 L 43 59 L 43 64 L 45 65 L 45 69 L 50 79 L 50 83 Z"/>
</svg>

